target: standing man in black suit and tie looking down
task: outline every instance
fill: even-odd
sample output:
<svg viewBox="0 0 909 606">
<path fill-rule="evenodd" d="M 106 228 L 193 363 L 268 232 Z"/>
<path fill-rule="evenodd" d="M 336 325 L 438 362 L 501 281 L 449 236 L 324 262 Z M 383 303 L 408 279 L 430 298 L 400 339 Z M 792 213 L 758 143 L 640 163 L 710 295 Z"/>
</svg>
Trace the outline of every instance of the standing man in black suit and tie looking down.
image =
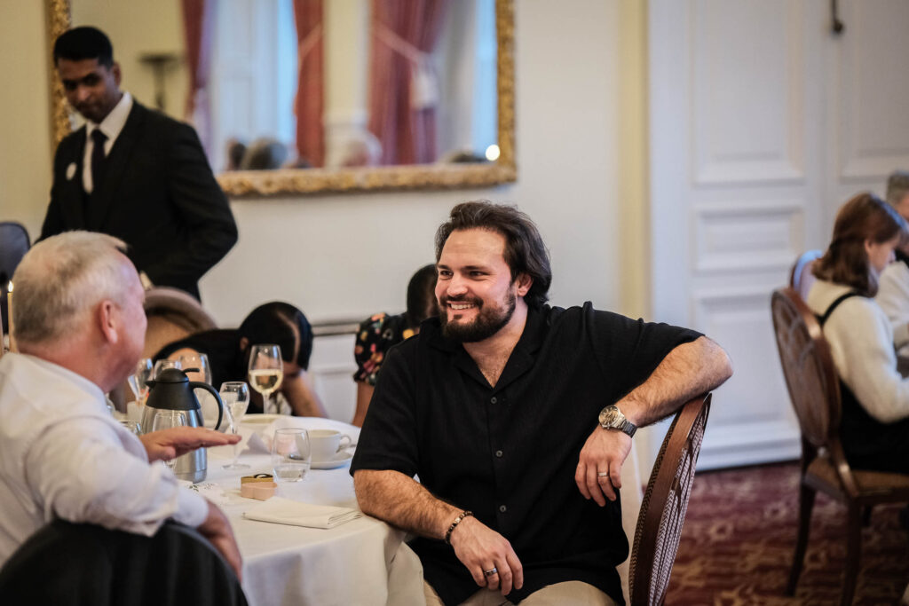
<svg viewBox="0 0 909 606">
<path fill-rule="evenodd" d="M 145 285 L 195 298 L 198 280 L 236 243 L 236 224 L 195 130 L 120 90 L 107 36 L 76 27 L 57 38 L 66 99 L 86 124 L 57 147 L 41 239 L 67 230 L 129 245 Z"/>
</svg>

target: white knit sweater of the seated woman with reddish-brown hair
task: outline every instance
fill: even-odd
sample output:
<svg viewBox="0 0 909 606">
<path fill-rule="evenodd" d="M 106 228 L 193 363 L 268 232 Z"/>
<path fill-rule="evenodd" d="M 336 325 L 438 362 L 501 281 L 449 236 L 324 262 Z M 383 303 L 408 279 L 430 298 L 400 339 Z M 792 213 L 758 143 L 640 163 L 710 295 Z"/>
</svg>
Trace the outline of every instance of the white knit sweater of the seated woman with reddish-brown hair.
<svg viewBox="0 0 909 606">
<path fill-rule="evenodd" d="M 851 290 L 818 280 L 808 293 L 808 307 L 823 314 L 830 303 Z M 836 370 L 865 411 L 879 422 L 909 416 L 909 380 L 896 372 L 894 331 L 880 306 L 862 296 L 846 299 L 824 324 Z"/>
</svg>

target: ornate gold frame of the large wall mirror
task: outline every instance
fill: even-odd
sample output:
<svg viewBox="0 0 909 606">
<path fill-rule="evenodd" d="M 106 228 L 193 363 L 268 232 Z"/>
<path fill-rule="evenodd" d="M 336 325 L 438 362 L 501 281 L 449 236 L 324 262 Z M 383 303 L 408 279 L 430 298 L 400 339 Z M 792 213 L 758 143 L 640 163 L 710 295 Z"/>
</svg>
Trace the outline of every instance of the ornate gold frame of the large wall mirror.
<svg viewBox="0 0 909 606">
<path fill-rule="evenodd" d="M 71 23 L 70 0 L 46 0 L 47 39 Z M 495 0 L 498 38 L 499 158 L 494 164 L 420 164 L 377 168 L 237 171 L 218 175 L 225 193 L 241 195 L 317 194 L 373 190 L 482 187 L 517 179 L 514 162 L 514 0 Z M 51 62 L 51 122 L 54 148 L 69 134 L 70 123 L 63 86 Z"/>
</svg>

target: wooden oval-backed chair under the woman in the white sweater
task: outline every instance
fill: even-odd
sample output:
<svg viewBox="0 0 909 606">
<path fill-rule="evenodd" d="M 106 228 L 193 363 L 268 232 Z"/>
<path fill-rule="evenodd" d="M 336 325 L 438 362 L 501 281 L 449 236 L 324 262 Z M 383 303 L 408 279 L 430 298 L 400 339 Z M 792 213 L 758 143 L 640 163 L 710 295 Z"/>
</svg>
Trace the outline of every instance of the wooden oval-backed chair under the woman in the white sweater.
<svg viewBox="0 0 909 606">
<path fill-rule="evenodd" d="M 909 502 L 909 475 L 853 471 L 840 442 L 840 383 L 830 346 L 814 313 L 792 288 L 771 299 L 776 346 L 802 432 L 798 538 L 786 592 L 794 595 L 808 542 L 814 495 L 845 505 L 848 521 L 845 578 L 840 603 L 852 603 L 862 547 L 862 512 L 879 503 Z"/>
</svg>

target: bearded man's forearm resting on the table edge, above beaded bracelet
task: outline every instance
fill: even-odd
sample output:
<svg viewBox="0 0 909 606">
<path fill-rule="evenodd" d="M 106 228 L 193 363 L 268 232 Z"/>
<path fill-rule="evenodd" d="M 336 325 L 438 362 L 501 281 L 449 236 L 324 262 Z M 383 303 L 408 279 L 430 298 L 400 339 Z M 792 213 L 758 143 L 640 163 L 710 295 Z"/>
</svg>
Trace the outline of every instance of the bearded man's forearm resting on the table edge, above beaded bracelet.
<svg viewBox="0 0 909 606">
<path fill-rule="evenodd" d="M 430 539 L 445 539 L 445 531 L 462 511 L 400 472 L 359 470 L 354 487 L 364 513 Z"/>
</svg>

